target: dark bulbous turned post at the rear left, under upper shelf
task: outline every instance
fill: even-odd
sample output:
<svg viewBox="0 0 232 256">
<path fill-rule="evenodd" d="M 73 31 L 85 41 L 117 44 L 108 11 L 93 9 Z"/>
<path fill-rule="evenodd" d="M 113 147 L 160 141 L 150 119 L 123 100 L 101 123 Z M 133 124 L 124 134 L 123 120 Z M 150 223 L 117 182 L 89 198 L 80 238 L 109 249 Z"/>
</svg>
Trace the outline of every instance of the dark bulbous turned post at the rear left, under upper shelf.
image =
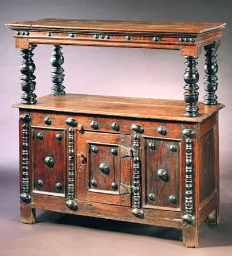
<svg viewBox="0 0 232 256">
<path fill-rule="evenodd" d="M 65 94 L 65 87 L 62 85 L 64 81 L 64 69 L 61 65 L 64 63 L 64 56 L 63 53 L 60 51 L 62 47 L 60 45 L 54 45 L 52 47 L 52 57 L 50 59 L 50 63 L 52 64 L 52 82 L 54 86 L 52 87 L 52 94 L 53 95 L 64 95 Z"/>
</svg>

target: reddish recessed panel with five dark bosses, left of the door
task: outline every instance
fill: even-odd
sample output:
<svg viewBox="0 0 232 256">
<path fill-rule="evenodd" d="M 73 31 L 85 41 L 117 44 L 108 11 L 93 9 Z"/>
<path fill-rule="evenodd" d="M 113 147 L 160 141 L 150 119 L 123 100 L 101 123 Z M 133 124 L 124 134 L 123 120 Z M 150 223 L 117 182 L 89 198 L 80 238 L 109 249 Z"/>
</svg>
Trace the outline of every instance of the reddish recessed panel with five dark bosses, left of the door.
<svg viewBox="0 0 232 256">
<path fill-rule="evenodd" d="M 65 131 L 33 128 L 34 192 L 65 195 Z"/>
</svg>

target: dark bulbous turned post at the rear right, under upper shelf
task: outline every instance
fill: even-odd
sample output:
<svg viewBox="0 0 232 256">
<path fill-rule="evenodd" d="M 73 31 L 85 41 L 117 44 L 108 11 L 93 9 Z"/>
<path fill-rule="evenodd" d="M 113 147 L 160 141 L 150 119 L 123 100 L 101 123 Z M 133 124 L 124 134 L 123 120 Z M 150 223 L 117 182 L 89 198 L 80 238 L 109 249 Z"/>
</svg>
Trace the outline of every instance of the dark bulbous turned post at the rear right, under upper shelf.
<svg viewBox="0 0 232 256">
<path fill-rule="evenodd" d="M 218 103 L 218 97 L 215 95 L 215 92 L 218 88 L 218 83 L 216 82 L 218 77 L 215 74 L 218 72 L 218 64 L 216 60 L 216 57 L 218 56 L 216 51 L 218 48 L 215 48 L 212 44 L 206 45 L 204 48 L 206 51 L 206 63 L 204 65 L 204 70 L 206 72 L 206 76 L 204 77 L 206 95 L 204 96 L 204 103 L 206 105 L 216 105 Z"/>
</svg>

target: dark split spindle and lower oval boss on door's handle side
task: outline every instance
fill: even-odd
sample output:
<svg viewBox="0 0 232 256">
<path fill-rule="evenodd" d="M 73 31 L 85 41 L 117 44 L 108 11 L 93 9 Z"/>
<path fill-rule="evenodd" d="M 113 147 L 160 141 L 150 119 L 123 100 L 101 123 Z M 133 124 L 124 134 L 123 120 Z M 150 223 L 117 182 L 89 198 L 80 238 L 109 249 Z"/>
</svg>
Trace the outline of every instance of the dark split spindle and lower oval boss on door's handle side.
<svg viewBox="0 0 232 256">
<path fill-rule="evenodd" d="M 69 199 L 68 201 L 66 201 L 66 206 L 68 208 L 70 208 L 70 210 L 74 211 L 77 210 L 77 203 L 73 200 L 74 198 L 74 193 L 75 193 L 75 186 L 74 186 L 74 130 L 71 127 L 69 129 L 69 135 L 68 135 L 68 139 L 69 139 L 69 180 L 68 180 L 68 196 Z"/>
</svg>

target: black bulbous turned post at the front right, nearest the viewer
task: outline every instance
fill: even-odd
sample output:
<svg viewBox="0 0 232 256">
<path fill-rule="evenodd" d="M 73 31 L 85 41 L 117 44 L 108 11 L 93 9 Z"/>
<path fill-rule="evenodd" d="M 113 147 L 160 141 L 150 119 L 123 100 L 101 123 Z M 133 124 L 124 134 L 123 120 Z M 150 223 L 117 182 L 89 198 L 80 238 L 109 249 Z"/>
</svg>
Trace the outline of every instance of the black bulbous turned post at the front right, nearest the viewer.
<svg viewBox="0 0 232 256">
<path fill-rule="evenodd" d="M 186 65 L 187 68 L 184 72 L 184 82 L 187 84 L 184 86 L 184 100 L 187 103 L 187 106 L 184 108 L 184 115 L 186 117 L 197 117 L 198 113 L 198 106 L 196 106 L 196 102 L 198 102 L 198 95 L 199 89 L 198 85 L 196 84 L 199 80 L 198 70 L 196 69 L 196 59 L 198 56 L 184 56 L 186 58 Z"/>
</svg>

